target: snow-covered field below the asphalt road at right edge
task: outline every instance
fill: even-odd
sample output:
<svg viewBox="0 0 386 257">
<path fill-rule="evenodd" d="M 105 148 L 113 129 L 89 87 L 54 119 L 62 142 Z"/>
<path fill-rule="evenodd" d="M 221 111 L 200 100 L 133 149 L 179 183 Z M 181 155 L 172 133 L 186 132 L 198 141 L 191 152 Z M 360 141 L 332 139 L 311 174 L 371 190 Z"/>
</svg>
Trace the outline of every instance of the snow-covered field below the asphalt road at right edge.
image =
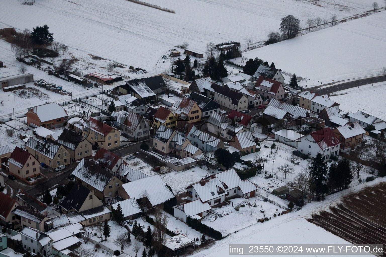
<svg viewBox="0 0 386 257">
<path fill-rule="evenodd" d="M 372 86 L 371 84 L 360 86 L 359 89 L 353 87 L 334 92 L 331 99 L 339 103 L 340 109 L 343 111 L 351 113 L 355 113 L 358 110 L 364 111 L 379 119 L 386 120 L 386 109 L 384 108 L 384 104 L 386 103 L 385 94 L 386 83 L 378 82 Z"/>
</svg>

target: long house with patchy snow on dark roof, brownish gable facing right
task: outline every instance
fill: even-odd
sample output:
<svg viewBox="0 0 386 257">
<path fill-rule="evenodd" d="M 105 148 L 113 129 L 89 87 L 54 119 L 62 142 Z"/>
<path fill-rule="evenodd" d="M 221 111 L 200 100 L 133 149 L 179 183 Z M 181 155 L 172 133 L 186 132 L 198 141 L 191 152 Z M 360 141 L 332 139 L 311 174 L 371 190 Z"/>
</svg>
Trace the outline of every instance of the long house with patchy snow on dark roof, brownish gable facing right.
<svg viewBox="0 0 386 257">
<path fill-rule="evenodd" d="M 118 188 L 122 185 L 122 181 L 117 176 L 84 158 L 72 174 L 76 177 L 76 180 L 93 191 L 94 195 L 103 202 L 112 200 L 117 195 Z"/>
</svg>

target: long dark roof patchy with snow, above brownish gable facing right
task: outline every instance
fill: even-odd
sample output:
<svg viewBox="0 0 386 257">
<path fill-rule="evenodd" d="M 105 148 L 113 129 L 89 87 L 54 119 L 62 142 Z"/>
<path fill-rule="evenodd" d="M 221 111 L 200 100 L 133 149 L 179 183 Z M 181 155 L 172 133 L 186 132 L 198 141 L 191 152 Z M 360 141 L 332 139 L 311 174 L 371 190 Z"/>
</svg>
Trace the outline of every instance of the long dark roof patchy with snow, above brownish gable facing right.
<svg viewBox="0 0 386 257">
<path fill-rule="evenodd" d="M 78 163 L 72 174 L 98 191 L 103 191 L 114 176 L 85 158 Z"/>
</svg>

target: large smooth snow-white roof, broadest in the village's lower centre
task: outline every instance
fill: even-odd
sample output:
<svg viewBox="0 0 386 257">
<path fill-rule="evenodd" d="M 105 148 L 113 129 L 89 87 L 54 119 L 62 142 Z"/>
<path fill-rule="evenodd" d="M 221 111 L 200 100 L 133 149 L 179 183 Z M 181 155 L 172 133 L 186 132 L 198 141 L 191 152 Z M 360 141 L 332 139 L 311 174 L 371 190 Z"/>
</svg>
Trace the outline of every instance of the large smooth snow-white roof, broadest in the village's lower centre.
<svg viewBox="0 0 386 257">
<path fill-rule="evenodd" d="M 147 199 L 151 205 L 157 205 L 173 198 L 173 193 L 166 186 L 161 176 L 155 175 L 140 180 L 131 181 L 122 185 L 129 197 L 141 199 L 142 191 L 147 191 Z"/>
</svg>

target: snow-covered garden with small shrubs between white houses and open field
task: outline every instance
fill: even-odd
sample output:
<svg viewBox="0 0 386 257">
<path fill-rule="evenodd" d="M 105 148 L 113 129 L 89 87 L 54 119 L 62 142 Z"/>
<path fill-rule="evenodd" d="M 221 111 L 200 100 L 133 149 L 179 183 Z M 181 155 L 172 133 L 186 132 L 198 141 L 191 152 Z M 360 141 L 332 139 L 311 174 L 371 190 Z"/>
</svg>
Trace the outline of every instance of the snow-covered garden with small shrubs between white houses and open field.
<svg viewBox="0 0 386 257">
<path fill-rule="evenodd" d="M 258 219 L 274 218 L 275 213 L 277 215 L 284 211 L 270 202 L 264 202 L 260 197 L 234 198 L 230 202 L 230 205 L 212 208 L 211 213 L 205 216 L 201 222 L 220 231 L 222 235 L 226 235 L 255 224 Z M 237 207 L 239 207 L 239 211 L 235 210 Z M 215 218 L 216 215 L 217 218 Z"/>
</svg>

